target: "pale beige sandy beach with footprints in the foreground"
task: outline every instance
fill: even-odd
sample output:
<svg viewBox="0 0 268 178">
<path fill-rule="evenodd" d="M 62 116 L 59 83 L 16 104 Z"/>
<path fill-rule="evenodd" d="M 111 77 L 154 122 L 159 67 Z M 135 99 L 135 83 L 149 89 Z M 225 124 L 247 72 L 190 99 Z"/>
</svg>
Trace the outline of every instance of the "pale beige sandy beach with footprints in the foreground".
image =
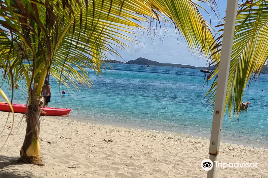
<svg viewBox="0 0 268 178">
<path fill-rule="evenodd" d="M 14 126 L 21 117 L 21 114 L 15 114 Z M 6 118 L 7 113 L 0 112 L 1 130 Z M 201 161 L 209 157 L 208 140 L 42 117 L 40 152 L 45 166 L 35 166 L 13 162 L 19 157 L 25 129 L 25 122 L 20 129 L 15 127 L 13 135 L 0 151 L 1 178 L 206 177 Z M 0 146 L 9 131 L 10 128 L 4 128 Z M 104 139 L 112 139 L 113 142 L 105 142 Z M 218 160 L 256 162 L 258 165 L 257 168 L 216 168 L 215 177 L 268 177 L 266 149 L 221 143 Z"/>
</svg>

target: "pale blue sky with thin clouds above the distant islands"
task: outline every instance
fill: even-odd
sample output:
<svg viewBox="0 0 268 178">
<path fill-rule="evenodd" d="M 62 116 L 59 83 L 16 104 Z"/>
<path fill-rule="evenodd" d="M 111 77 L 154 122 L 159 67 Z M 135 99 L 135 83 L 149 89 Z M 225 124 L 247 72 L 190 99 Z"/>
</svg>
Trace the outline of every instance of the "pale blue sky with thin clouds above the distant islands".
<svg viewBox="0 0 268 178">
<path fill-rule="evenodd" d="M 218 4 L 220 17 L 223 18 L 225 16 L 227 0 L 216 0 L 216 2 Z M 207 13 L 201 10 L 200 12 L 202 13 L 205 20 L 209 22 L 210 17 L 207 15 Z M 209 12 L 211 12 L 211 10 L 209 10 Z M 211 15 L 211 18 L 211 26 L 214 27 L 214 29 L 217 31 L 218 29 L 215 28 L 215 26 L 218 24 L 218 22 L 216 22 L 217 18 L 215 15 Z M 146 34 L 146 31 L 144 31 L 144 35 L 142 35 L 141 32 L 137 32 L 137 34 L 142 35 L 136 35 L 138 44 L 124 41 L 124 43 L 130 47 L 130 49 L 127 49 L 128 53 L 124 50 L 121 50 L 120 48 L 116 48 L 117 52 L 122 56 L 123 59 L 119 56 L 112 57 L 111 55 L 108 55 L 108 58 L 127 62 L 131 59 L 143 57 L 161 63 L 179 63 L 197 67 L 208 66 L 207 60 L 205 58 L 200 58 L 198 54 L 193 54 L 189 51 L 184 40 L 181 39 L 178 34 L 176 34 L 174 26 L 168 26 L 167 30 L 169 33 L 166 33 L 165 36 L 165 29 L 163 27 L 160 28 L 158 25 L 157 30 L 159 35 L 160 31 L 162 32 L 161 39 L 160 36 L 155 36 L 155 38 L 152 40 L 151 37 Z M 134 35 L 129 36 L 135 39 Z"/>
</svg>

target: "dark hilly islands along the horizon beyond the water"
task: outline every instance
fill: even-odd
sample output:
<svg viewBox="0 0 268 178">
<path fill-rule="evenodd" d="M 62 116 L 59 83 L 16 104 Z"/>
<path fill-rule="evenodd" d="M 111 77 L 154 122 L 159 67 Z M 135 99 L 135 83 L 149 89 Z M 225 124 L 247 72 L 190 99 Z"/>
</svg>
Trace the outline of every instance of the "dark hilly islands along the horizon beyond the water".
<svg viewBox="0 0 268 178">
<path fill-rule="evenodd" d="M 124 63 L 117 60 L 105 60 L 105 62 L 111 62 L 111 63 Z M 160 63 L 157 61 L 151 61 L 146 58 L 139 57 L 137 59 L 132 59 L 128 61 L 126 64 L 136 64 L 136 65 L 149 65 L 149 66 L 169 66 L 169 67 L 179 67 L 179 68 L 188 68 L 188 69 L 205 69 L 208 67 L 196 67 L 196 66 L 190 66 L 190 65 L 184 65 L 184 64 L 171 64 L 171 63 Z M 213 66 L 210 66 L 209 69 L 213 69 Z M 262 74 L 268 74 L 268 67 L 267 65 L 264 65 L 261 69 Z"/>
</svg>

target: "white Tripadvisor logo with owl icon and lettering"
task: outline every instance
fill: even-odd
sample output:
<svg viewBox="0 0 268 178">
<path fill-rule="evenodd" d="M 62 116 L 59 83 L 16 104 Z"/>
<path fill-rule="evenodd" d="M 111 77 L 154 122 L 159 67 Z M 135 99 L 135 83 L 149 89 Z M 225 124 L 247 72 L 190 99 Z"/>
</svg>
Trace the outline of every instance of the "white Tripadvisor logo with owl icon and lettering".
<svg viewBox="0 0 268 178">
<path fill-rule="evenodd" d="M 205 171 L 209 171 L 213 168 L 213 165 L 215 168 L 257 168 L 258 163 L 247 163 L 244 162 L 235 162 L 235 163 L 226 163 L 222 161 L 214 161 L 214 163 L 210 159 L 204 159 L 201 162 L 201 167 Z"/>
</svg>

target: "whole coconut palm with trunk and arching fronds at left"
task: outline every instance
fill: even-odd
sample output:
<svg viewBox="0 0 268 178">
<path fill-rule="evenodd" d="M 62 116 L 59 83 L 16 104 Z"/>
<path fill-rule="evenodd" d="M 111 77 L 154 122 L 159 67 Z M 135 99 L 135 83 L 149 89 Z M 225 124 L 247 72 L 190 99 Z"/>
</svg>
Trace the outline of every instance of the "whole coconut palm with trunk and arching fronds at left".
<svg viewBox="0 0 268 178">
<path fill-rule="evenodd" d="M 20 160 L 42 165 L 39 118 L 45 103 L 40 96 L 44 80 L 52 76 L 68 88 L 90 87 L 86 69 L 100 73 L 107 53 L 120 56 L 114 46 L 126 50 L 122 39 L 135 42 L 127 34 L 135 34 L 137 28 L 172 23 L 189 49 L 211 56 L 216 51 L 211 27 L 197 1 L 214 9 L 212 0 L 0 1 L 1 84 L 13 92 L 14 83 L 23 80 L 28 92 Z M 2 90 L 0 93 L 8 101 Z"/>
</svg>

